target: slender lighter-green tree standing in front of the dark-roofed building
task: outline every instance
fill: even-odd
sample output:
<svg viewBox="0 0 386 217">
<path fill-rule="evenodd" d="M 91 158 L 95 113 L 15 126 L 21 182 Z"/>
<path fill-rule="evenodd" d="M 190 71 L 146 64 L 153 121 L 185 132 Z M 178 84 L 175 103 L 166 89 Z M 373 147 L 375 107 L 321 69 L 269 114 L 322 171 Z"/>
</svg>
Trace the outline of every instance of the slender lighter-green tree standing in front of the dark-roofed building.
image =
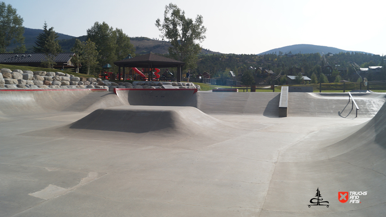
<svg viewBox="0 0 386 217">
<path fill-rule="evenodd" d="M 46 66 L 46 68 L 54 68 L 56 65 L 55 58 L 58 56 L 61 51 L 61 47 L 56 40 L 56 33 L 50 32 L 44 46 L 44 54 L 46 56 L 46 60 L 42 62 L 42 65 Z"/>
</svg>

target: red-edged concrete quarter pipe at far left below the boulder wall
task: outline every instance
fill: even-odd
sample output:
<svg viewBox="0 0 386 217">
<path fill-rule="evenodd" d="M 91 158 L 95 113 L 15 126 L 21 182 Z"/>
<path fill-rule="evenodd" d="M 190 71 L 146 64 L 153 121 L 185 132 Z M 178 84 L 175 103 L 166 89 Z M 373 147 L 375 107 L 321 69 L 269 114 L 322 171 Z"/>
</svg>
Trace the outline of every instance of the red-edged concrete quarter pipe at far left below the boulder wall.
<svg viewBox="0 0 386 217">
<path fill-rule="evenodd" d="M 97 103 L 102 98 L 105 105 Z M 0 91 L 0 116 L 3 118 L 32 114 L 47 115 L 63 111 L 79 112 L 87 109 L 95 110 L 95 107 L 125 104 L 127 103 L 120 102 L 113 93 L 92 89 Z"/>
</svg>

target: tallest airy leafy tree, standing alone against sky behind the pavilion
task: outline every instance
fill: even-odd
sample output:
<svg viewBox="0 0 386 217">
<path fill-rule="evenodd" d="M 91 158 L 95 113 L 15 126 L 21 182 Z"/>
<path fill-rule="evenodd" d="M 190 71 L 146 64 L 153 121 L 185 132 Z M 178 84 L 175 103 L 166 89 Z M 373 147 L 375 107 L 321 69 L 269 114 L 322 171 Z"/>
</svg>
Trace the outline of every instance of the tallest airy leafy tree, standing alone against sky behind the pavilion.
<svg viewBox="0 0 386 217">
<path fill-rule="evenodd" d="M 165 6 L 163 23 L 157 19 L 156 27 L 161 31 L 162 39 L 171 42 L 171 58 L 185 62 L 185 69 L 196 68 L 198 53 L 201 51 L 199 42 L 203 42 L 207 31 L 203 26 L 202 16 L 197 15 L 193 21 L 185 17 L 185 12 L 177 5 L 170 3 Z"/>
</svg>

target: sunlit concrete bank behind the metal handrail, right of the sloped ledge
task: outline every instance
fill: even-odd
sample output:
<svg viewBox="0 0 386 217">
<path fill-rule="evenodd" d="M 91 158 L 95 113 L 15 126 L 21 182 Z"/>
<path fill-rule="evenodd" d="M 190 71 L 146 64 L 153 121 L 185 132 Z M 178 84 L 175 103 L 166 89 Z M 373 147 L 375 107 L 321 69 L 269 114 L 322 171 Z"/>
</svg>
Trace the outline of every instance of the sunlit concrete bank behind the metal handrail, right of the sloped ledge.
<svg viewBox="0 0 386 217">
<path fill-rule="evenodd" d="M 359 106 L 358 117 L 371 118 L 386 102 L 384 93 L 352 93 Z M 288 117 L 355 118 L 348 93 L 289 93 Z"/>
</svg>

